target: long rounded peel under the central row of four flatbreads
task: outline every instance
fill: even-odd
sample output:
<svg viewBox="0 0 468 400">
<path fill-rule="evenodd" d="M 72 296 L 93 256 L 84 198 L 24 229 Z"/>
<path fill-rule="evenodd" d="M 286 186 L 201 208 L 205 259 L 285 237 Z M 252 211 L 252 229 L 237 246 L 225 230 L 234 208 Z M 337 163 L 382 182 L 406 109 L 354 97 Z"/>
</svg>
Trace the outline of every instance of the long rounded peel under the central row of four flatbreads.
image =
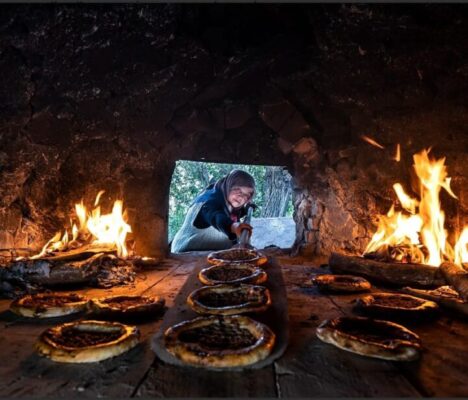
<svg viewBox="0 0 468 400">
<path fill-rule="evenodd" d="M 178 294 L 174 306 L 166 313 L 164 320 L 162 322 L 159 332 L 154 336 L 152 341 L 152 348 L 157 356 L 166 363 L 178 365 L 185 367 L 186 364 L 180 361 L 178 358 L 174 357 L 169 353 L 163 343 L 164 332 L 167 328 L 182 322 L 191 320 L 199 316 L 195 311 L 193 311 L 187 305 L 187 297 L 194 290 L 203 287 L 204 285 L 198 279 L 198 273 L 204 267 L 204 265 L 199 265 L 195 268 L 190 276 L 188 277 L 184 287 L 181 289 Z M 229 368 L 230 370 L 245 370 L 245 369 L 259 369 L 271 364 L 274 360 L 281 357 L 284 351 L 286 350 L 289 338 L 289 321 L 288 321 L 288 305 L 287 305 L 287 294 L 285 289 L 285 284 L 283 276 L 281 273 L 280 265 L 270 260 L 267 264 L 263 265 L 262 268 L 265 269 L 268 275 L 268 279 L 262 285 L 267 287 L 270 291 L 272 304 L 271 306 L 262 313 L 249 314 L 251 318 L 259 322 L 264 323 L 270 327 L 276 335 L 276 342 L 273 348 L 272 353 L 255 364 L 246 365 L 243 367 Z M 214 369 L 209 367 L 195 367 L 203 369 Z M 216 369 L 218 370 L 218 369 Z M 226 370 L 226 368 L 223 368 Z"/>
</svg>

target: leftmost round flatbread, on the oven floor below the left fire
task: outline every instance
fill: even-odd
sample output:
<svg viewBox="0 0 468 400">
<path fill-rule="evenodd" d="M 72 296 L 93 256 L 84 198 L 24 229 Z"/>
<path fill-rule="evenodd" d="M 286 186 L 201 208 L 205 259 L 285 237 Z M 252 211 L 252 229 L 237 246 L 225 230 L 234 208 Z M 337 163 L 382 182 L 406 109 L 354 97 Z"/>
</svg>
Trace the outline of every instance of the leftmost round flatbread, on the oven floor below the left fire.
<svg viewBox="0 0 468 400">
<path fill-rule="evenodd" d="M 38 293 L 13 300 L 10 310 L 30 318 L 63 317 L 86 310 L 87 302 L 76 293 Z"/>
</svg>

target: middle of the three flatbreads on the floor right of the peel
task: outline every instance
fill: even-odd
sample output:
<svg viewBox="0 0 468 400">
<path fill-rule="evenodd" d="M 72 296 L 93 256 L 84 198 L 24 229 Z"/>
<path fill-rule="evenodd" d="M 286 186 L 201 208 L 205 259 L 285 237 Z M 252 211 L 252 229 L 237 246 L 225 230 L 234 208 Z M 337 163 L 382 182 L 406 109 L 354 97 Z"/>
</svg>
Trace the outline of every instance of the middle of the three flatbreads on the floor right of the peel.
<svg viewBox="0 0 468 400">
<path fill-rule="evenodd" d="M 354 309 L 368 316 L 382 318 L 431 317 L 437 314 L 439 306 L 430 300 L 424 300 L 409 294 L 373 293 L 356 300 Z"/>
</svg>

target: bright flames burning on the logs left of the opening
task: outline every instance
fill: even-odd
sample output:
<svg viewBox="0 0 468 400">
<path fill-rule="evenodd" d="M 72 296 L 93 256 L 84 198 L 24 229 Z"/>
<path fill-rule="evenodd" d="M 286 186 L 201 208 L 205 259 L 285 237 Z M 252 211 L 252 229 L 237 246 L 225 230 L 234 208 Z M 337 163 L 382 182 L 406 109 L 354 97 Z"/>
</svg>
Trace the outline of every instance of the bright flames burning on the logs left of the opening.
<svg viewBox="0 0 468 400">
<path fill-rule="evenodd" d="M 88 212 L 83 200 L 75 204 L 75 213 L 78 225 L 71 220 L 71 235 L 65 230 L 63 235 L 57 232 L 42 248 L 39 254 L 31 257 L 33 259 L 44 257 L 55 251 L 74 249 L 84 244 L 95 244 L 116 248 L 117 254 L 126 258 L 128 250 L 125 244 L 127 233 L 132 228 L 127 223 L 127 212 L 123 210 L 123 201 L 116 200 L 109 214 L 101 214 L 99 201 L 104 191 L 101 190 L 94 202 L 94 209 Z M 71 239 L 70 239 L 71 236 Z"/>
</svg>

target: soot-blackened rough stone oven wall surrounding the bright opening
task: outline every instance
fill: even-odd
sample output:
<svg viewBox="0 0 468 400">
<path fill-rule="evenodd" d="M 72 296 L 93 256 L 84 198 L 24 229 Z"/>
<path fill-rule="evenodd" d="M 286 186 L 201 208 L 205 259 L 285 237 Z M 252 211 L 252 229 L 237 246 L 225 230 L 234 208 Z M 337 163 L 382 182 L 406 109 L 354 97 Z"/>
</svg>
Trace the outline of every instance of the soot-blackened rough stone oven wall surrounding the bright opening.
<svg viewBox="0 0 468 400">
<path fill-rule="evenodd" d="M 163 255 L 178 159 L 286 165 L 296 249 L 360 252 L 433 146 L 466 221 L 465 5 L 0 8 L 0 248 L 40 247 L 104 189 Z"/>
</svg>

